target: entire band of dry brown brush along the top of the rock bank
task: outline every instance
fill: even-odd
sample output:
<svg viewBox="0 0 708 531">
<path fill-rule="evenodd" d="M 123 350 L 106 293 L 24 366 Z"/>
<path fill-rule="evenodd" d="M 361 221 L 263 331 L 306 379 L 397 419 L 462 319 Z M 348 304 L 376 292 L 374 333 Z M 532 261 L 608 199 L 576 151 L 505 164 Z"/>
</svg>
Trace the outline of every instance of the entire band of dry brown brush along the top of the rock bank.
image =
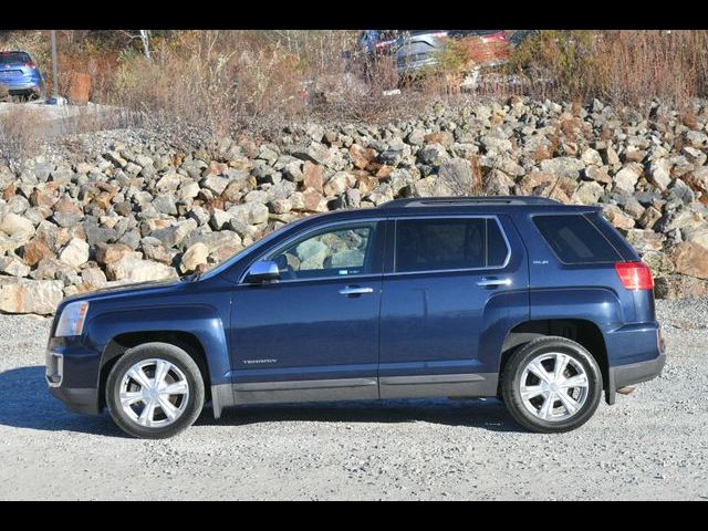
<svg viewBox="0 0 708 531">
<path fill-rule="evenodd" d="M 669 102 L 688 108 L 681 121 L 691 127 L 697 122 L 687 103 L 708 95 L 708 31 L 544 30 L 524 41 L 507 67 L 481 81 L 472 76 L 469 84 L 470 64 L 488 58 L 473 41 L 461 41 L 447 46 L 439 67 L 404 86 L 402 95 L 384 95 L 398 84 L 395 58 L 381 58 L 368 82 L 361 58 L 343 59 L 343 52 L 355 49 L 357 33 L 159 31 L 152 60 L 146 60 L 127 33 L 61 30 L 59 90 L 67 92 L 73 73 L 88 73 L 92 101 L 125 110 L 121 125 L 157 123 L 185 137 L 190 132 L 272 137 L 293 121 L 381 123 L 420 115 L 440 101 L 455 105 L 524 94 L 573 102 L 572 118 L 559 132 L 573 138 L 589 133 L 579 126 L 579 116 L 593 97 L 613 104 Z M 51 71 L 46 31 L 0 32 L 0 46 L 25 49 L 44 72 Z M 104 125 L 85 113 L 72 122 L 71 132 Z M 603 137 L 608 133 L 603 131 Z M 537 158 L 553 156 L 559 145 L 540 149 Z"/>
</svg>

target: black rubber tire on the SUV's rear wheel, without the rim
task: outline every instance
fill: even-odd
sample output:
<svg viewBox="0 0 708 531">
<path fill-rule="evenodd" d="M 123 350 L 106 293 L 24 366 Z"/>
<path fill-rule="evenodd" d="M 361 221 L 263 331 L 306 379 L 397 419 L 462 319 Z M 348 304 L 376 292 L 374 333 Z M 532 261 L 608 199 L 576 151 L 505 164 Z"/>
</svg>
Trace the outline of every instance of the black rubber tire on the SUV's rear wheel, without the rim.
<svg viewBox="0 0 708 531">
<path fill-rule="evenodd" d="M 571 417 L 544 420 L 532 414 L 521 398 L 523 368 L 534 357 L 548 353 L 562 353 L 572 357 L 585 371 L 587 391 L 583 405 Z M 585 424 L 595 413 L 602 398 L 602 373 L 595 358 L 582 345 L 565 337 L 546 336 L 533 340 L 514 352 L 501 376 L 503 402 L 517 423 L 539 434 L 571 431 Z"/>
</svg>

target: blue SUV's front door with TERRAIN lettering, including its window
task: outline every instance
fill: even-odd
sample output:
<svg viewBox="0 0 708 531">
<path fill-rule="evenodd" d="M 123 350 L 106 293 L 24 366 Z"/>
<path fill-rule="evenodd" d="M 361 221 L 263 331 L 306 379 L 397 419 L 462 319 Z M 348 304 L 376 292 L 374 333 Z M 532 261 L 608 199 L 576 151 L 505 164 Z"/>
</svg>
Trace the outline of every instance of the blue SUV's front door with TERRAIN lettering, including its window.
<svg viewBox="0 0 708 531">
<path fill-rule="evenodd" d="M 382 229 L 315 228 L 261 257 L 280 281 L 233 292 L 237 403 L 378 398 Z"/>
</svg>

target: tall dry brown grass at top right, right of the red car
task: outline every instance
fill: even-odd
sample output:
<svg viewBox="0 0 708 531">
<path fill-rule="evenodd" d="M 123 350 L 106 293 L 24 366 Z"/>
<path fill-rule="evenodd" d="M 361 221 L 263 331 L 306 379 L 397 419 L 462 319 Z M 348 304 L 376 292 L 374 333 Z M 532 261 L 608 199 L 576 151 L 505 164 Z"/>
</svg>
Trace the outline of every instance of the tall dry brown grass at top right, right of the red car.
<svg viewBox="0 0 708 531">
<path fill-rule="evenodd" d="M 707 45 L 704 30 L 542 31 L 514 51 L 510 71 L 535 96 L 681 106 L 707 95 Z"/>
</svg>

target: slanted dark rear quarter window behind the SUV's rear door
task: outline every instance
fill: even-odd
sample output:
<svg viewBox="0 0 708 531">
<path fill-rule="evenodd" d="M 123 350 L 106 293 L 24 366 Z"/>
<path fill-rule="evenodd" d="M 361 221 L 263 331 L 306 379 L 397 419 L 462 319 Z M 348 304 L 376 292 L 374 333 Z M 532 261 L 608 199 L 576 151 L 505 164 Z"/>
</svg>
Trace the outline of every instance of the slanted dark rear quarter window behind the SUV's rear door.
<svg viewBox="0 0 708 531">
<path fill-rule="evenodd" d="M 584 216 L 534 216 L 533 223 L 562 262 L 622 260 L 602 232 Z"/>
</svg>

